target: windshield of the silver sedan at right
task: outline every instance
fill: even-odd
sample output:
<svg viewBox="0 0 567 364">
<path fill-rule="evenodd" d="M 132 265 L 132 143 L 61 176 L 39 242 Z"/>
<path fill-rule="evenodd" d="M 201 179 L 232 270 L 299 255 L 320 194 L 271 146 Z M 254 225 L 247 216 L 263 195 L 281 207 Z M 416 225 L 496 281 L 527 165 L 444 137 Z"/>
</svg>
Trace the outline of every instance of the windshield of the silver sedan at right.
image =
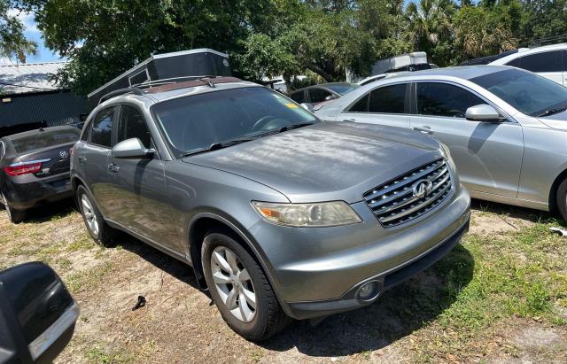
<svg viewBox="0 0 567 364">
<path fill-rule="evenodd" d="M 567 107 L 567 88 L 554 81 L 517 69 L 485 74 L 470 81 L 530 116 Z"/>
</svg>

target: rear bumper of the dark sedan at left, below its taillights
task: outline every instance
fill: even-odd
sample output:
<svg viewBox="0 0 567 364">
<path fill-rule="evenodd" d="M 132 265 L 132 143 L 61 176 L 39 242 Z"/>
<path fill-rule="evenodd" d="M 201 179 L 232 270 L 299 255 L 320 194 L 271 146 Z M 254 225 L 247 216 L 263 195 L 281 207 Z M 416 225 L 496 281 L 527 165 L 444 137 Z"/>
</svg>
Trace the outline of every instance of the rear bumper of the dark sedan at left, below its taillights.
<svg viewBox="0 0 567 364">
<path fill-rule="evenodd" d="M 12 208 L 27 210 L 43 203 L 55 202 L 72 197 L 69 173 L 58 174 L 44 179 L 32 176 L 11 177 L 6 181 L 5 196 Z"/>
</svg>

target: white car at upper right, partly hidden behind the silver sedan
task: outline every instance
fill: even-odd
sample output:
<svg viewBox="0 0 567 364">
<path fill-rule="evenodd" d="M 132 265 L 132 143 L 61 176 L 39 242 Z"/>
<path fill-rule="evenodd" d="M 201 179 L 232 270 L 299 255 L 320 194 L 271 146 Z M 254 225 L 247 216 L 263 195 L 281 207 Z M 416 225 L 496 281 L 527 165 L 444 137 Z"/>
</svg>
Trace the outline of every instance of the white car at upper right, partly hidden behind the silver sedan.
<svg viewBox="0 0 567 364">
<path fill-rule="evenodd" d="M 567 43 L 520 48 L 488 65 L 523 68 L 567 86 Z"/>
</svg>

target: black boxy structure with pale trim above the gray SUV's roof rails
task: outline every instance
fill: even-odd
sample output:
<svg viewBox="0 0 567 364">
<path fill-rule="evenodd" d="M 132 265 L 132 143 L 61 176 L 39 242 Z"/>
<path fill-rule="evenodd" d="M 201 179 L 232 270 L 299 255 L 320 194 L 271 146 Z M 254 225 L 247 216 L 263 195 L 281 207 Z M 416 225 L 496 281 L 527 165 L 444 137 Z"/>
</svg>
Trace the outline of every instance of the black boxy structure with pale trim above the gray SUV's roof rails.
<svg viewBox="0 0 567 364">
<path fill-rule="evenodd" d="M 179 77 L 230 76 L 229 55 L 208 48 L 182 50 L 156 54 L 139 65 L 89 93 L 88 105 L 92 110 L 100 97 L 116 89 L 124 89 L 146 81 L 167 80 Z"/>
</svg>

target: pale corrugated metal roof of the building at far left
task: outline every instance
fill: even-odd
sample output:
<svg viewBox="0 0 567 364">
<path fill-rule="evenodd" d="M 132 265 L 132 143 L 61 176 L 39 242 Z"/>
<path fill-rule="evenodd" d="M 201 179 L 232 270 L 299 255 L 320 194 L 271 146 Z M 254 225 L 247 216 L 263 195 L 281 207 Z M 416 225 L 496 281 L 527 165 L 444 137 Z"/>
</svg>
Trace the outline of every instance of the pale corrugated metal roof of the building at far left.
<svg viewBox="0 0 567 364">
<path fill-rule="evenodd" d="M 0 66 L 0 94 L 12 95 L 56 90 L 58 87 L 50 78 L 67 63 L 21 63 Z"/>
</svg>

